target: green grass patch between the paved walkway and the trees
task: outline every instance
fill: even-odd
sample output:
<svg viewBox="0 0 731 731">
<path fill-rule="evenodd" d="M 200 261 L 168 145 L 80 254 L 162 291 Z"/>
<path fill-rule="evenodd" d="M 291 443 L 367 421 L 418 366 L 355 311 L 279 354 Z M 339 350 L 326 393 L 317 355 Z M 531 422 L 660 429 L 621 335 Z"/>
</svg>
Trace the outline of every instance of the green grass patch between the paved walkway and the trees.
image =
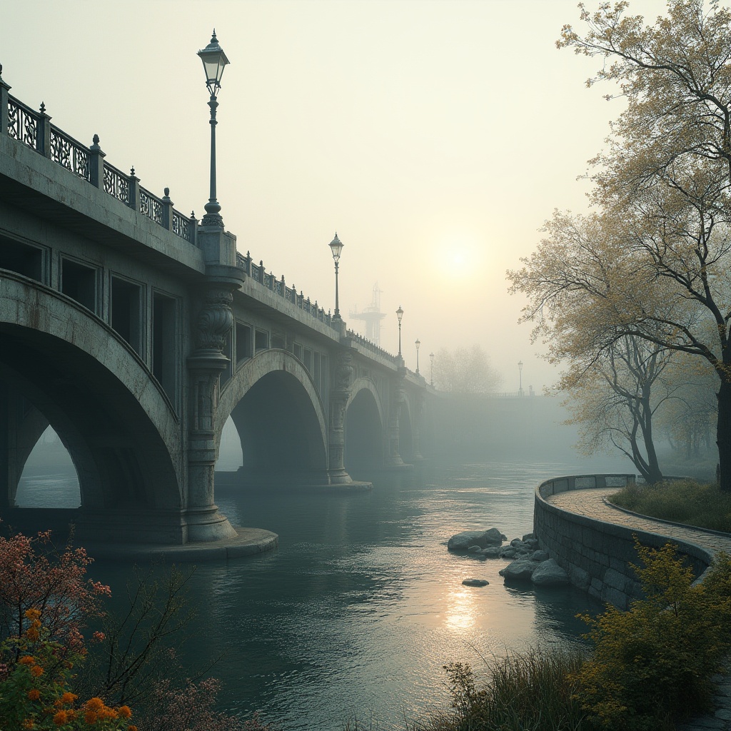
<svg viewBox="0 0 731 731">
<path fill-rule="evenodd" d="M 715 484 L 671 480 L 628 485 L 610 501 L 653 518 L 731 533 L 731 493 L 721 492 Z"/>
</svg>

